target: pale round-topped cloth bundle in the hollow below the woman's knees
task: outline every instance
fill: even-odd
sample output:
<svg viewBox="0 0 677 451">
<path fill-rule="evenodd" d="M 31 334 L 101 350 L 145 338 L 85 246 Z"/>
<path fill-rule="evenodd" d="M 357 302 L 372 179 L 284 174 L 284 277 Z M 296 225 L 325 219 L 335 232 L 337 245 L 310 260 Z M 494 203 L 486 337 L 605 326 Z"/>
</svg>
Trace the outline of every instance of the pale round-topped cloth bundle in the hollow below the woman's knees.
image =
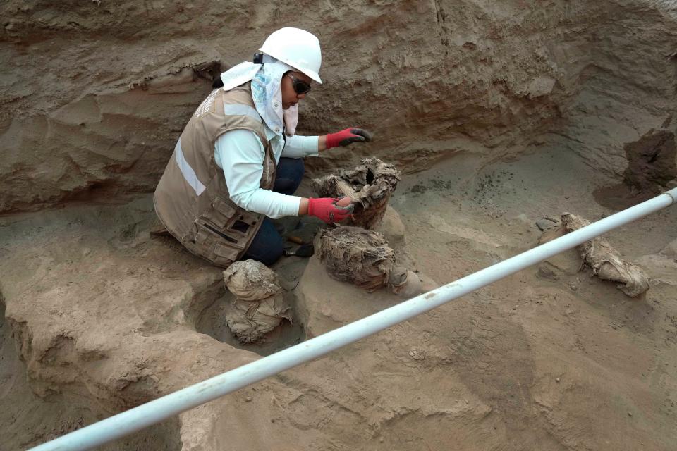
<svg viewBox="0 0 677 451">
<path fill-rule="evenodd" d="M 240 342 L 256 342 L 291 321 L 289 304 L 276 273 L 255 260 L 236 261 L 224 271 L 226 287 L 236 299 L 226 314 L 226 324 Z"/>
</svg>

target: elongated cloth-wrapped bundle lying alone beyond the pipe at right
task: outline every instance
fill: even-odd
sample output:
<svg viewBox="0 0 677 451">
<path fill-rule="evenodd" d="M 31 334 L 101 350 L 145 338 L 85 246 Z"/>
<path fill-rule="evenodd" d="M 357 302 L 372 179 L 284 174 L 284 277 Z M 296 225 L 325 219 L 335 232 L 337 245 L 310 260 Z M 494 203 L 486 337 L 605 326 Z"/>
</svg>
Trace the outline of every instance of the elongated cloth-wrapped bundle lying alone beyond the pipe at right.
<svg viewBox="0 0 677 451">
<path fill-rule="evenodd" d="M 590 224 L 590 221 L 570 213 L 562 214 L 561 218 L 567 232 Z M 649 278 L 642 268 L 623 260 L 604 237 L 586 241 L 577 249 L 594 275 L 618 283 L 616 286 L 626 295 L 635 297 L 649 290 Z"/>
</svg>

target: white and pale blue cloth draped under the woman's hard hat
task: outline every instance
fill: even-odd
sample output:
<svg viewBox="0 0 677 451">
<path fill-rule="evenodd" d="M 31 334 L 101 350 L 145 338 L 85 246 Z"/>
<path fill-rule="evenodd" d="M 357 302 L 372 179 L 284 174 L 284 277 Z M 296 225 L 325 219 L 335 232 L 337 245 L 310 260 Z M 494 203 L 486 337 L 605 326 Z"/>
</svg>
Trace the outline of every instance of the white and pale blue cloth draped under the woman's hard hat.
<svg viewBox="0 0 677 451">
<path fill-rule="evenodd" d="M 256 111 L 270 130 L 277 135 L 282 130 L 287 136 L 293 136 L 298 124 L 298 106 L 290 106 L 282 109 L 282 75 L 289 70 L 295 70 L 288 64 L 278 61 L 272 56 L 263 56 L 263 64 L 250 62 L 240 63 L 231 69 L 221 73 L 221 81 L 224 82 L 224 91 L 230 91 L 234 87 L 243 85 L 251 80 L 252 98 Z M 279 131 L 278 131 L 279 130 Z"/>
</svg>

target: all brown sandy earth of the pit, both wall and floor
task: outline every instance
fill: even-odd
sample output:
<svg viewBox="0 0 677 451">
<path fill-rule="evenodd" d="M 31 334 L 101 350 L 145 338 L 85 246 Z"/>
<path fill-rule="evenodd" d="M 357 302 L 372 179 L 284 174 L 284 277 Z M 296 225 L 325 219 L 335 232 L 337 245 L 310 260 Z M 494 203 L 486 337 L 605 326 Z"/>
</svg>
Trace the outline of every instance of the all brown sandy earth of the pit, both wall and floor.
<svg viewBox="0 0 677 451">
<path fill-rule="evenodd" d="M 286 257 L 293 323 L 240 345 L 219 268 L 150 233 L 149 193 L 212 78 L 281 25 L 323 44 L 300 133 L 376 137 L 307 159 L 301 194 L 365 156 L 395 163 L 381 231 L 428 284 L 534 247 L 544 218 L 677 185 L 668 0 L 8 0 L 0 16 L 3 450 L 401 302 Z M 606 237 L 647 271 L 644 297 L 571 250 L 104 449 L 673 450 L 677 207 Z"/>
</svg>

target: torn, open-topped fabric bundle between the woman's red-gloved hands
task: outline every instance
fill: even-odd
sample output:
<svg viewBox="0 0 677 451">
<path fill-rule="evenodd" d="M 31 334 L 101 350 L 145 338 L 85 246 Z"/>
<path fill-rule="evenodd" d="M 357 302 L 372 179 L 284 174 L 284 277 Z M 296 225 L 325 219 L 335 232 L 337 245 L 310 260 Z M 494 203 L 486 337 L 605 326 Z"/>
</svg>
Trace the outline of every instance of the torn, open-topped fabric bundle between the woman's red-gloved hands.
<svg viewBox="0 0 677 451">
<path fill-rule="evenodd" d="M 367 158 L 351 171 L 312 180 L 312 188 L 322 197 L 350 197 L 355 204 L 354 219 L 347 218 L 345 223 L 371 229 L 381 222 L 399 180 L 395 166 Z"/>
</svg>

